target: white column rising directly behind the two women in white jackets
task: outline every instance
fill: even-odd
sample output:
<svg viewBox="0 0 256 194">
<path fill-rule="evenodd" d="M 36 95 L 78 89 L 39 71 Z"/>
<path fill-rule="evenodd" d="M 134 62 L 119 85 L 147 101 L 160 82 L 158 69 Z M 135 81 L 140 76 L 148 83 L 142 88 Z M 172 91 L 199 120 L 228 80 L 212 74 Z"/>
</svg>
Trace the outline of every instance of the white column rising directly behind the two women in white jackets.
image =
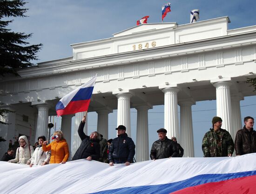
<svg viewBox="0 0 256 194">
<path fill-rule="evenodd" d="M 39 136 L 45 136 L 47 138 L 48 134 L 48 110 L 50 106 L 48 104 L 38 104 L 36 105 L 38 109 L 37 125 L 35 132 L 35 142 Z"/>
</svg>

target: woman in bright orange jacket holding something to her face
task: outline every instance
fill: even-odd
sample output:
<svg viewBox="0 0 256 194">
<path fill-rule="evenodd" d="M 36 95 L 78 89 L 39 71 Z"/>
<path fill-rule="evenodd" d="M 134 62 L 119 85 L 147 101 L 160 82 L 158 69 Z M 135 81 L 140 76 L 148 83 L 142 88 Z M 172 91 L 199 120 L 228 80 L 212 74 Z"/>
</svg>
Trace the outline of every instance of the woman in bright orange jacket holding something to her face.
<svg viewBox="0 0 256 194">
<path fill-rule="evenodd" d="M 54 141 L 47 145 L 47 141 L 43 142 L 43 150 L 51 150 L 52 155 L 50 164 L 62 163 L 65 164 L 68 160 L 69 151 L 67 141 L 63 137 L 62 131 L 54 132 Z"/>
</svg>

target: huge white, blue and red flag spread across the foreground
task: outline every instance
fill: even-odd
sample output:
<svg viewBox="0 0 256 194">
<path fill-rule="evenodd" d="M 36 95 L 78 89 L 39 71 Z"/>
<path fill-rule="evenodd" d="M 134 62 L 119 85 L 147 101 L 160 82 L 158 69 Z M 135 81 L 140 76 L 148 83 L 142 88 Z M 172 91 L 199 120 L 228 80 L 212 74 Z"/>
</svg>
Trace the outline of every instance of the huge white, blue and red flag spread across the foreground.
<svg viewBox="0 0 256 194">
<path fill-rule="evenodd" d="M 7 194 L 255 194 L 256 153 L 237 157 L 170 158 L 130 166 L 78 160 L 33 166 L 0 162 Z"/>
</svg>

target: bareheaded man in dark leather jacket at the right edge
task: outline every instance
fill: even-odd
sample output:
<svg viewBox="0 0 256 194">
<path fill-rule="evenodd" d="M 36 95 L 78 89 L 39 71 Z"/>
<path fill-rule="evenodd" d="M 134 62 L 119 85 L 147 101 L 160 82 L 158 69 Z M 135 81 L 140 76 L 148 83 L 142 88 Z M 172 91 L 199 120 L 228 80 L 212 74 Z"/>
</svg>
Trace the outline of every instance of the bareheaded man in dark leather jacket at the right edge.
<svg viewBox="0 0 256 194">
<path fill-rule="evenodd" d="M 253 130 L 254 118 L 246 116 L 244 127 L 236 132 L 236 155 L 256 153 L 256 131 Z"/>
</svg>

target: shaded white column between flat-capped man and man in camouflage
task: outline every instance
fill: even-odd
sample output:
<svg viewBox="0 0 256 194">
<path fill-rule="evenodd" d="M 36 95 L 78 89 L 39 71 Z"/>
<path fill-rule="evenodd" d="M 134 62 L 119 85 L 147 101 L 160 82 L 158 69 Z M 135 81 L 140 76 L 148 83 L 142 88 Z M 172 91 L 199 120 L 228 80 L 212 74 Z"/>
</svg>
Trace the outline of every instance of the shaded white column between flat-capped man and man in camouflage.
<svg viewBox="0 0 256 194">
<path fill-rule="evenodd" d="M 181 146 L 184 149 L 183 157 L 195 157 L 194 152 L 194 136 L 193 136 L 193 124 L 192 124 L 192 110 L 191 106 L 195 104 L 192 101 L 179 102 L 181 107 Z"/>
</svg>

